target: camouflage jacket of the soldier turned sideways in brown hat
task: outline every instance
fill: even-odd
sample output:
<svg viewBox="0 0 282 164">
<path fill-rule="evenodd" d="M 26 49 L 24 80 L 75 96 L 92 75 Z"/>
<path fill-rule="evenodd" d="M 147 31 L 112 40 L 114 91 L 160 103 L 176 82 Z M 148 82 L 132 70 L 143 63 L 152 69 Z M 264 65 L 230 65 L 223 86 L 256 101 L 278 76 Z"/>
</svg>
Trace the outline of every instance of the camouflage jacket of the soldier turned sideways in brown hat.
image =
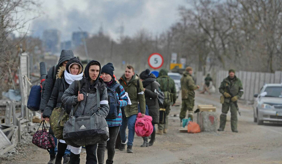
<svg viewBox="0 0 282 164">
<path fill-rule="evenodd" d="M 192 75 L 190 75 L 190 73 L 184 71 L 183 77 L 180 79 L 180 84 L 181 84 L 182 99 L 195 97 L 194 90 L 197 89 L 197 86 L 195 85 L 193 77 Z"/>
</svg>

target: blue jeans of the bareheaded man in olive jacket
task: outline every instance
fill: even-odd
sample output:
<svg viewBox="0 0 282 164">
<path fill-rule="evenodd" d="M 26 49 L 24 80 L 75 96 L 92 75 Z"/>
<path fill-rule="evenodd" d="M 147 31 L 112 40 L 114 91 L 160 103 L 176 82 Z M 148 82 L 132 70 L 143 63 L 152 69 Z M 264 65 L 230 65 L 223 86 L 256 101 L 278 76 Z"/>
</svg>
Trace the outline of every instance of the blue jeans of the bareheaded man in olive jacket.
<svg viewBox="0 0 282 164">
<path fill-rule="evenodd" d="M 126 127 L 128 126 L 128 142 L 127 146 L 133 145 L 134 134 L 135 134 L 135 121 L 137 114 L 133 114 L 129 117 L 122 119 L 122 125 L 120 126 L 120 139 L 124 143 L 126 141 Z"/>
</svg>

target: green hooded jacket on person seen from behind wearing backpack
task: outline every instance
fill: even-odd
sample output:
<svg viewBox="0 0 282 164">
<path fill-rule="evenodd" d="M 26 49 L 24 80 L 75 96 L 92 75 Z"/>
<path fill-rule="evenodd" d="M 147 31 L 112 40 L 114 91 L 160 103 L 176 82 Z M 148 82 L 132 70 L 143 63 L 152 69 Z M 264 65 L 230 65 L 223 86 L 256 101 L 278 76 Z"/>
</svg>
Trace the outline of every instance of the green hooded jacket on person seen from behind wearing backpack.
<svg viewBox="0 0 282 164">
<path fill-rule="evenodd" d="M 175 104 L 175 101 L 176 101 L 175 83 L 174 83 L 174 80 L 168 76 L 168 70 L 161 69 L 156 81 L 160 84 L 160 90 L 162 92 L 168 91 L 169 93 L 171 93 L 173 101 L 171 102 L 170 105 Z"/>
</svg>

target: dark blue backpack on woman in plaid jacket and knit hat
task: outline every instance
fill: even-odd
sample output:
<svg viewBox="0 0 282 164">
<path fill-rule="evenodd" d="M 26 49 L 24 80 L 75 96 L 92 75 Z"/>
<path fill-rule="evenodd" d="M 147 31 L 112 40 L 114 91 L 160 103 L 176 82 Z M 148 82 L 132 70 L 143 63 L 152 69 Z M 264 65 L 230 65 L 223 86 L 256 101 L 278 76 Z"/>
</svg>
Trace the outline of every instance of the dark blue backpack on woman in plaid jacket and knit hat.
<svg viewBox="0 0 282 164">
<path fill-rule="evenodd" d="M 116 119 L 118 117 L 118 113 L 119 113 L 119 103 L 118 103 L 118 98 L 116 96 L 116 93 L 114 92 L 114 90 L 116 90 L 117 92 L 117 88 L 120 86 L 120 84 L 115 84 L 113 86 L 113 88 L 109 88 L 107 87 L 107 92 L 108 92 L 108 101 L 109 101 L 109 113 L 106 117 L 106 119 Z M 118 93 L 118 92 L 117 92 Z"/>
</svg>

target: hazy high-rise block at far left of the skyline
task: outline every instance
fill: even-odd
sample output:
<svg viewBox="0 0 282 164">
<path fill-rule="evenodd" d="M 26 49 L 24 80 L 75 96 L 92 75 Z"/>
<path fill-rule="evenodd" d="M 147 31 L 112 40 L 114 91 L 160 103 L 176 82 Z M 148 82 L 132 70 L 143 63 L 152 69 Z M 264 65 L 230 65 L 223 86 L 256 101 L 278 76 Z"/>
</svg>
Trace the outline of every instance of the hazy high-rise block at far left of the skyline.
<svg viewBox="0 0 282 164">
<path fill-rule="evenodd" d="M 45 52 L 58 53 L 61 51 L 61 32 L 59 30 L 44 30 L 42 41 Z"/>
</svg>

